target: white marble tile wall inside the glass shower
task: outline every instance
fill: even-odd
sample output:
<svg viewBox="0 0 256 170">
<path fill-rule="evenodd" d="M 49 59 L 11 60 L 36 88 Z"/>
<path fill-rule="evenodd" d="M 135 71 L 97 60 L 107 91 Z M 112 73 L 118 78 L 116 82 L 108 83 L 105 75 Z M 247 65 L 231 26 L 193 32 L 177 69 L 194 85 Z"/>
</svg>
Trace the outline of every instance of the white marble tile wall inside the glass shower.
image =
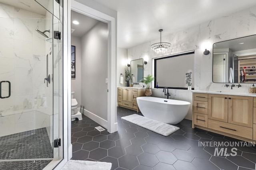
<svg viewBox="0 0 256 170">
<path fill-rule="evenodd" d="M 52 20 L 51 20 L 52 21 Z M 47 114 L 45 16 L 0 3 L 0 80 L 12 84 L 0 99 L 0 136 L 49 126 Z M 7 89 L 4 89 L 7 91 Z"/>
</svg>

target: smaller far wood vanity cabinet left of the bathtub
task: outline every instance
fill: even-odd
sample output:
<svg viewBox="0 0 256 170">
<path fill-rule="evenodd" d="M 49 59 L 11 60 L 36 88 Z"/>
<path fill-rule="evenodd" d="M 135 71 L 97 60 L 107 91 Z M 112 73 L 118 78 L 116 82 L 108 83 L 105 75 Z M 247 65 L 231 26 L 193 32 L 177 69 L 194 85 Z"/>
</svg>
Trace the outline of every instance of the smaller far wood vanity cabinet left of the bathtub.
<svg viewBox="0 0 256 170">
<path fill-rule="evenodd" d="M 145 88 L 118 88 L 118 106 L 139 112 L 137 97 L 144 94 Z"/>
</svg>

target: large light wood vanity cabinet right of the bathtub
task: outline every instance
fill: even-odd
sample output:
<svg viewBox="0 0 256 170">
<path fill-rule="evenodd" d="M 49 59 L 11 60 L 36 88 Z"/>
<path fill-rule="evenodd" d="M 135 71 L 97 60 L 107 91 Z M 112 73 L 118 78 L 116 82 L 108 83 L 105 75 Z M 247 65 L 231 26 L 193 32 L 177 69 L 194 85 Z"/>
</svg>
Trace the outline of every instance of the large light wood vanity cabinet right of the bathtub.
<svg viewBox="0 0 256 170">
<path fill-rule="evenodd" d="M 192 128 L 198 127 L 238 139 L 256 139 L 256 98 L 250 96 L 233 96 L 223 94 L 204 94 L 208 103 L 207 121 L 197 122 L 199 93 L 193 94 Z M 207 99 L 207 101 L 206 101 Z M 200 118 L 202 119 L 202 117 Z M 206 125 L 206 123 L 208 123 Z M 253 124 L 255 123 L 255 124 Z M 206 128 L 205 128 L 206 127 Z M 242 138 L 241 138 L 242 137 Z"/>
</svg>

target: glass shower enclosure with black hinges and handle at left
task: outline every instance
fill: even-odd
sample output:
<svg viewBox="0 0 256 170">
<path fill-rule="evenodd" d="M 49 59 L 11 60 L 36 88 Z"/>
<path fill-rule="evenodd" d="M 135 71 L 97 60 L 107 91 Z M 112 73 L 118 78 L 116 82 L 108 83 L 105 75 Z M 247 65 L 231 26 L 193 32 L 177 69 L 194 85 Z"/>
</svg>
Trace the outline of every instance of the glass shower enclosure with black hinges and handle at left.
<svg viewBox="0 0 256 170">
<path fill-rule="evenodd" d="M 0 0 L 0 169 L 62 158 L 61 33 L 62 2 Z"/>
</svg>

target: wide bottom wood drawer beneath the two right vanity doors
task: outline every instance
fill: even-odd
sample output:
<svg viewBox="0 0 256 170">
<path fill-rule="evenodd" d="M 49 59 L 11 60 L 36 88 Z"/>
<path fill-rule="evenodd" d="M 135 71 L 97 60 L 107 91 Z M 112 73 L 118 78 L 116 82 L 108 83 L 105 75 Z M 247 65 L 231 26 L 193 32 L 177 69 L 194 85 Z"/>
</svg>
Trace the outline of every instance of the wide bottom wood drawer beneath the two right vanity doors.
<svg viewBox="0 0 256 170">
<path fill-rule="evenodd" d="M 252 139 L 252 128 L 208 119 L 208 128 Z"/>
</svg>

